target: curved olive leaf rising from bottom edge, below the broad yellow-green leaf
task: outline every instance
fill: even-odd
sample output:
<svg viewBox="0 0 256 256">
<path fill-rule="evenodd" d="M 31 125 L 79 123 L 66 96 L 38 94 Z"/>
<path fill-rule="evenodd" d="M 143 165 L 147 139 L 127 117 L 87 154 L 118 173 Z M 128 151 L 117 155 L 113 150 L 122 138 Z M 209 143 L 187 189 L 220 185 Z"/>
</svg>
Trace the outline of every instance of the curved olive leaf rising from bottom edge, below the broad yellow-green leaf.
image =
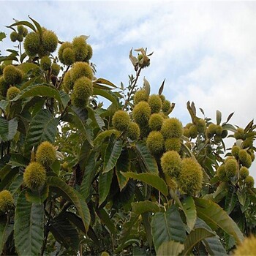
<svg viewBox="0 0 256 256">
<path fill-rule="evenodd" d="M 195 230 L 192 230 L 185 240 L 185 248 L 182 255 L 189 255 L 189 252 L 192 251 L 197 243 L 210 236 L 214 236 L 214 233 L 211 233 L 204 228 L 196 228 Z"/>
</svg>

